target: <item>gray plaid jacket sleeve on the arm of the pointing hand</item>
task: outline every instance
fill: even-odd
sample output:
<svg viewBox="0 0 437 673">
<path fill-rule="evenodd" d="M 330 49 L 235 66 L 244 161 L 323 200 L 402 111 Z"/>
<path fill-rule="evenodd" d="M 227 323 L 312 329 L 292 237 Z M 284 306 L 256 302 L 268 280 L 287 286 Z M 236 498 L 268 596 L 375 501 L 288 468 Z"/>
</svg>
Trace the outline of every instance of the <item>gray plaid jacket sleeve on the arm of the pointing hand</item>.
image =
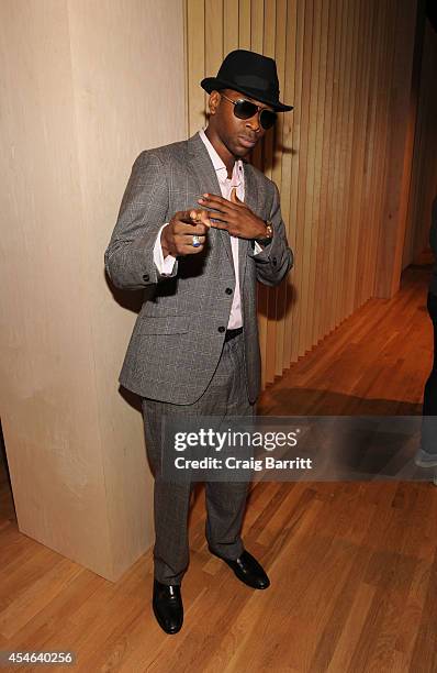
<svg viewBox="0 0 437 673">
<path fill-rule="evenodd" d="M 154 263 L 154 245 L 168 221 L 168 186 L 163 163 L 153 152 L 142 152 L 128 179 L 119 218 L 104 253 L 112 283 L 123 289 L 142 289 L 177 274 L 160 276 Z"/>
</svg>

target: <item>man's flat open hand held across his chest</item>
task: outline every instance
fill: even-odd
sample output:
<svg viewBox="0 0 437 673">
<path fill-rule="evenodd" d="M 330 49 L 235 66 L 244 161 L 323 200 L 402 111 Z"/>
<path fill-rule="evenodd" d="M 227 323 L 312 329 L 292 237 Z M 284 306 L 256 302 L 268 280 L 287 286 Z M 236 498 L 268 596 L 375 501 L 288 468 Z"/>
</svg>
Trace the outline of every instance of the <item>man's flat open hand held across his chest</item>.
<svg viewBox="0 0 437 673">
<path fill-rule="evenodd" d="M 209 212 L 211 227 L 225 229 L 231 235 L 239 239 L 265 239 L 266 223 L 238 199 L 236 192 L 234 187 L 231 191 L 231 201 L 215 194 L 204 194 L 198 202 L 218 211 Z"/>
</svg>

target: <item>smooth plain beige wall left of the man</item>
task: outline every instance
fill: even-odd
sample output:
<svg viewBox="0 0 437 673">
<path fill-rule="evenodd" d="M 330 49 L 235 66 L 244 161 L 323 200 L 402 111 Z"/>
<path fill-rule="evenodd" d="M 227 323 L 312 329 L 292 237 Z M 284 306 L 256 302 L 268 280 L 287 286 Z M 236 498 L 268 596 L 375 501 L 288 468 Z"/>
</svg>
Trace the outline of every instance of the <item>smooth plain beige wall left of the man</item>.
<svg viewBox="0 0 437 673">
<path fill-rule="evenodd" d="M 20 530 L 115 578 L 152 539 L 103 252 L 141 150 L 186 137 L 178 0 L 0 3 L 0 413 Z M 115 299 L 115 300 L 114 300 Z"/>
</svg>

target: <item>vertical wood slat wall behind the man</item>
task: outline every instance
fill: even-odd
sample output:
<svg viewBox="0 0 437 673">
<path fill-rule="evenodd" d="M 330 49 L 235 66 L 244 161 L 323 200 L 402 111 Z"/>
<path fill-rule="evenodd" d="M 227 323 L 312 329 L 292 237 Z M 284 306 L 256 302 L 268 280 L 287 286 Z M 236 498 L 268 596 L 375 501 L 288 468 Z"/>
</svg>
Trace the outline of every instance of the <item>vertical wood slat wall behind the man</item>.
<svg viewBox="0 0 437 673">
<path fill-rule="evenodd" d="M 399 188 L 390 162 L 394 87 L 411 84 L 393 69 L 396 21 L 405 24 L 402 12 L 416 2 L 408 10 L 406 0 L 187 2 L 190 132 L 200 125 L 199 80 L 232 48 L 274 57 L 281 99 L 294 106 L 250 157 L 280 189 L 295 253 L 289 278 L 258 293 L 265 386 L 373 295 L 378 265 L 396 285 L 378 249 L 385 190 Z M 204 44 L 191 44 L 202 33 Z M 407 64 L 413 43 L 403 45 Z M 397 136 L 402 143 L 402 129 Z M 411 126 L 408 143 L 411 153 Z"/>
</svg>

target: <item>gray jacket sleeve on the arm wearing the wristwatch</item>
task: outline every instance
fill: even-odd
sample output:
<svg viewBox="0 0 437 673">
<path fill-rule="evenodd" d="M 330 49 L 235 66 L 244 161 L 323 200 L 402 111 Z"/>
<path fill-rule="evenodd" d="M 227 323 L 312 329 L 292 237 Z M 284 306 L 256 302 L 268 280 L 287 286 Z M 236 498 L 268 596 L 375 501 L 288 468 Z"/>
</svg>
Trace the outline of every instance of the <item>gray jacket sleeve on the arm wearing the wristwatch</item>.
<svg viewBox="0 0 437 673">
<path fill-rule="evenodd" d="M 255 260 L 257 280 L 264 283 L 264 285 L 274 286 L 279 285 L 293 266 L 293 253 L 287 241 L 278 187 L 274 183 L 271 183 L 271 185 L 273 187 L 273 200 L 269 220 L 273 227 L 273 238 L 260 253 L 255 254 L 251 250 L 249 255 Z"/>
</svg>

